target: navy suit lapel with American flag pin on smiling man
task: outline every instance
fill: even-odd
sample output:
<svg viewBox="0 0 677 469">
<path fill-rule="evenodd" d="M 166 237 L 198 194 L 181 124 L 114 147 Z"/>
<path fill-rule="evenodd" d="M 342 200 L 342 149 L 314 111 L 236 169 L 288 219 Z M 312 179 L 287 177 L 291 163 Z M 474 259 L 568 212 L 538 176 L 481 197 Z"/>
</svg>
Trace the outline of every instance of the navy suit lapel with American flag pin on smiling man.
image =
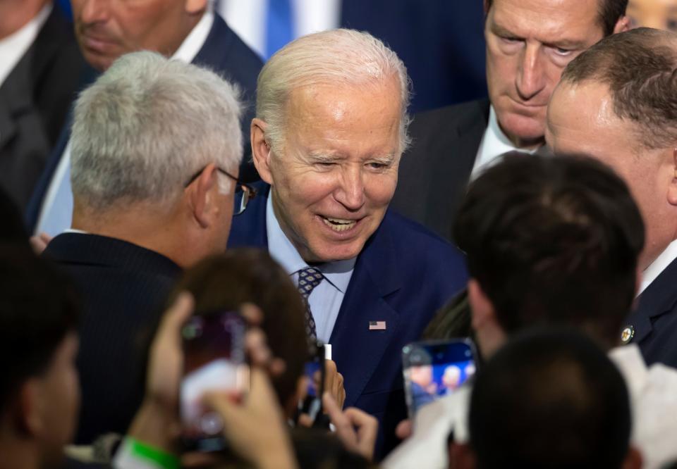
<svg viewBox="0 0 677 469">
<path fill-rule="evenodd" d="M 346 406 L 353 406 L 362 394 L 401 327 L 398 311 L 384 299 L 401 285 L 387 217 L 355 263 L 329 341 L 334 361 L 345 377 Z M 384 321 L 386 330 L 369 330 L 370 321 Z"/>
</svg>

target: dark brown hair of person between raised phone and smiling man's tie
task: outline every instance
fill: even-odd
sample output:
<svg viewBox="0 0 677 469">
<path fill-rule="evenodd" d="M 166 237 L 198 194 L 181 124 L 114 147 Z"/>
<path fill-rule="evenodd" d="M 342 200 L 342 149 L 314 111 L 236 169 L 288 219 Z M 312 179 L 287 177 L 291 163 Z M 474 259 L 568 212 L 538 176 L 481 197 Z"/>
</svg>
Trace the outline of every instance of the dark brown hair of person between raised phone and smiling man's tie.
<svg viewBox="0 0 677 469">
<path fill-rule="evenodd" d="M 195 313 L 237 311 L 243 303 L 261 308 L 268 346 L 286 368 L 272 379 L 283 407 L 295 395 L 308 359 L 305 306 L 287 273 L 266 251 L 229 249 L 190 268 L 175 287 L 195 297 Z"/>
</svg>

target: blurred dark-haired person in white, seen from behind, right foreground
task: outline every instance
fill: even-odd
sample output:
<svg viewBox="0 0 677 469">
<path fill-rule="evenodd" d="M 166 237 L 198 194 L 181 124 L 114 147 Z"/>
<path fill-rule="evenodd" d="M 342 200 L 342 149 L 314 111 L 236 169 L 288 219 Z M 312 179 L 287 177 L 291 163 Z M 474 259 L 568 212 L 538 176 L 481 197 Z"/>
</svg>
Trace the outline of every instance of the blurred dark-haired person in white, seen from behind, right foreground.
<svg viewBox="0 0 677 469">
<path fill-rule="evenodd" d="M 677 370 L 647 368 L 636 345 L 618 346 L 638 285 L 643 228 L 630 190 L 602 163 L 513 155 L 470 184 L 455 232 L 468 259 L 472 329 L 482 357 L 526 327 L 567 327 L 591 337 L 626 379 L 633 445 L 645 467 L 659 468 L 677 455 Z M 446 467 L 449 433 L 455 442 L 468 441 L 469 394 L 461 387 L 422 408 L 413 437 L 384 465 Z"/>
</svg>

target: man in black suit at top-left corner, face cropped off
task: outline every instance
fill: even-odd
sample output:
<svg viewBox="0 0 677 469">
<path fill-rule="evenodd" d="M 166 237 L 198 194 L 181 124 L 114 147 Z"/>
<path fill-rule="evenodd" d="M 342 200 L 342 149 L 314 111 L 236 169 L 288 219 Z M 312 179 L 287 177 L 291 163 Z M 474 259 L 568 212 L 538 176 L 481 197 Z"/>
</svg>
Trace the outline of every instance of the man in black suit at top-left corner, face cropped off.
<svg viewBox="0 0 677 469">
<path fill-rule="evenodd" d="M 24 211 L 75 99 L 85 63 L 48 0 L 0 2 L 0 187 Z"/>
</svg>

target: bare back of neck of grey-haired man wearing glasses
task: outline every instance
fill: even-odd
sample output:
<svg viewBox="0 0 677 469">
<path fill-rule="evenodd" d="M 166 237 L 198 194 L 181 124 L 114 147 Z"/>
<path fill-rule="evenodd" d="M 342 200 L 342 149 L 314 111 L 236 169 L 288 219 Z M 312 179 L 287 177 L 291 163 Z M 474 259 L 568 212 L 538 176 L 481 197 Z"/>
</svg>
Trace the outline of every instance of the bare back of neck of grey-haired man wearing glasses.
<svg viewBox="0 0 677 469">
<path fill-rule="evenodd" d="M 183 228 L 178 208 L 166 212 L 164 208 L 136 204 L 123 209 L 94 211 L 83 208 L 75 201 L 73 230 L 83 230 L 92 235 L 121 239 L 171 259 L 186 268 L 199 258 L 195 254 L 200 243 L 191 239 Z"/>
</svg>

